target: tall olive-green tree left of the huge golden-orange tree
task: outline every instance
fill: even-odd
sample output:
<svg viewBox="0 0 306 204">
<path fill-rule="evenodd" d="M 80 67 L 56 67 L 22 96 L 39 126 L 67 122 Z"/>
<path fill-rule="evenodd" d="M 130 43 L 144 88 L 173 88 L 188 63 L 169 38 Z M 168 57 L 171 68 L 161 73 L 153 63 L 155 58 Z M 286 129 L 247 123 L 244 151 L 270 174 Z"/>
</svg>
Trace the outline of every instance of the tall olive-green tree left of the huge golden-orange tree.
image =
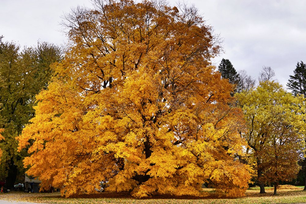
<svg viewBox="0 0 306 204">
<path fill-rule="evenodd" d="M 0 127 L 6 138 L 0 142 L 3 151 L 0 177 L 13 187 L 17 176 L 24 179 L 22 159 L 26 151 L 17 152 L 15 137 L 35 114 L 35 95 L 46 87 L 50 79 L 50 64 L 61 57 L 57 46 L 38 43 L 37 47 L 20 52 L 17 44 L 0 44 Z"/>
</svg>

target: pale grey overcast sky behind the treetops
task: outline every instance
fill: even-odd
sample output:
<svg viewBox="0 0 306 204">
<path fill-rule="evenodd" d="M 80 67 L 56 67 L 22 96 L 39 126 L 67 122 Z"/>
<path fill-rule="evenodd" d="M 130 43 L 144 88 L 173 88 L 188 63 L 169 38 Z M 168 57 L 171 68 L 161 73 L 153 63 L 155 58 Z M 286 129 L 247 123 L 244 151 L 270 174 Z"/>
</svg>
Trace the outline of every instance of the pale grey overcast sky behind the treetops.
<svg viewBox="0 0 306 204">
<path fill-rule="evenodd" d="M 169 0 L 175 5 L 177 0 Z M 271 66 L 286 85 L 298 61 L 306 61 L 306 1 L 301 0 L 189 0 L 224 39 L 222 53 L 213 62 L 229 59 L 237 71 L 257 78 L 262 66 Z M 37 41 L 61 45 L 60 16 L 90 0 L 0 0 L 3 41 L 32 46 Z"/>
</svg>

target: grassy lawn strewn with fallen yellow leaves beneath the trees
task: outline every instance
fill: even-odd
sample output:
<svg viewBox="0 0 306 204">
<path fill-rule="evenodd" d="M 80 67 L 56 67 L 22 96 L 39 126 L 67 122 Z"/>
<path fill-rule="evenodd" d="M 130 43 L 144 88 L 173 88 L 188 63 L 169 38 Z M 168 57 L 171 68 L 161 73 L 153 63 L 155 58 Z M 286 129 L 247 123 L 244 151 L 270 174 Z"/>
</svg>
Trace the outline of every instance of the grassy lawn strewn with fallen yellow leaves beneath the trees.
<svg viewBox="0 0 306 204">
<path fill-rule="evenodd" d="M 209 190 L 209 189 L 207 189 Z M 213 189 L 212 189 L 213 190 Z M 101 193 L 91 196 L 81 196 L 77 198 L 62 198 L 59 193 L 23 193 L 23 192 L 10 192 L 0 194 L 0 199 L 4 200 L 17 200 L 38 203 L 62 203 L 62 204 L 77 204 L 77 203 L 203 203 L 203 204 L 263 204 L 263 203 L 303 203 L 306 202 L 306 192 L 301 190 L 278 190 L 278 195 L 273 195 L 273 189 L 267 188 L 267 193 L 259 195 L 259 190 L 250 189 L 247 191 L 246 197 L 243 198 L 192 198 L 192 197 L 153 197 L 148 199 L 135 199 L 127 193 Z"/>
</svg>

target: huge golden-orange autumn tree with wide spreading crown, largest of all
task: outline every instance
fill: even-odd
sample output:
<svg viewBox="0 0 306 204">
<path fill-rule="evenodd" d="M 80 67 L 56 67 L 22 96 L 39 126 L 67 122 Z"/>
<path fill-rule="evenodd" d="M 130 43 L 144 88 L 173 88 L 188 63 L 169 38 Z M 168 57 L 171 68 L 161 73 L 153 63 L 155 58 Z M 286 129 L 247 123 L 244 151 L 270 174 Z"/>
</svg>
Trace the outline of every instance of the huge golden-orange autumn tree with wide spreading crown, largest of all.
<svg viewBox="0 0 306 204">
<path fill-rule="evenodd" d="M 211 66 L 218 39 L 194 7 L 162 1 L 94 1 L 66 16 L 69 49 L 54 66 L 19 140 L 27 173 L 62 195 L 241 196 L 241 110 Z"/>
</svg>

